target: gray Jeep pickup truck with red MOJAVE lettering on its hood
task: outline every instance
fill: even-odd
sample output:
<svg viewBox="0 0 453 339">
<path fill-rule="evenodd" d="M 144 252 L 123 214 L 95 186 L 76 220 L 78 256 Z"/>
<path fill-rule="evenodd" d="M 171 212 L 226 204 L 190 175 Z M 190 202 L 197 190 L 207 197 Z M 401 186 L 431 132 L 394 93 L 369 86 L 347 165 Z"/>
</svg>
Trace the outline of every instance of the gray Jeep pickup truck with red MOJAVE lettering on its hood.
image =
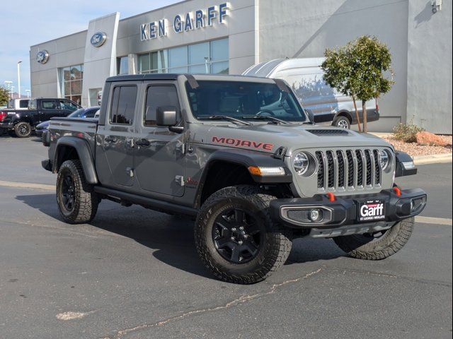
<svg viewBox="0 0 453 339">
<path fill-rule="evenodd" d="M 425 208 L 411 157 L 369 134 L 314 126 L 280 80 L 147 74 L 108 78 L 99 119 L 50 121 L 57 204 L 90 222 L 102 199 L 195 218 L 205 266 L 256 283 L 297 237 L 332 238 L 355 258 L 408 242 Z"/>
</svg>

